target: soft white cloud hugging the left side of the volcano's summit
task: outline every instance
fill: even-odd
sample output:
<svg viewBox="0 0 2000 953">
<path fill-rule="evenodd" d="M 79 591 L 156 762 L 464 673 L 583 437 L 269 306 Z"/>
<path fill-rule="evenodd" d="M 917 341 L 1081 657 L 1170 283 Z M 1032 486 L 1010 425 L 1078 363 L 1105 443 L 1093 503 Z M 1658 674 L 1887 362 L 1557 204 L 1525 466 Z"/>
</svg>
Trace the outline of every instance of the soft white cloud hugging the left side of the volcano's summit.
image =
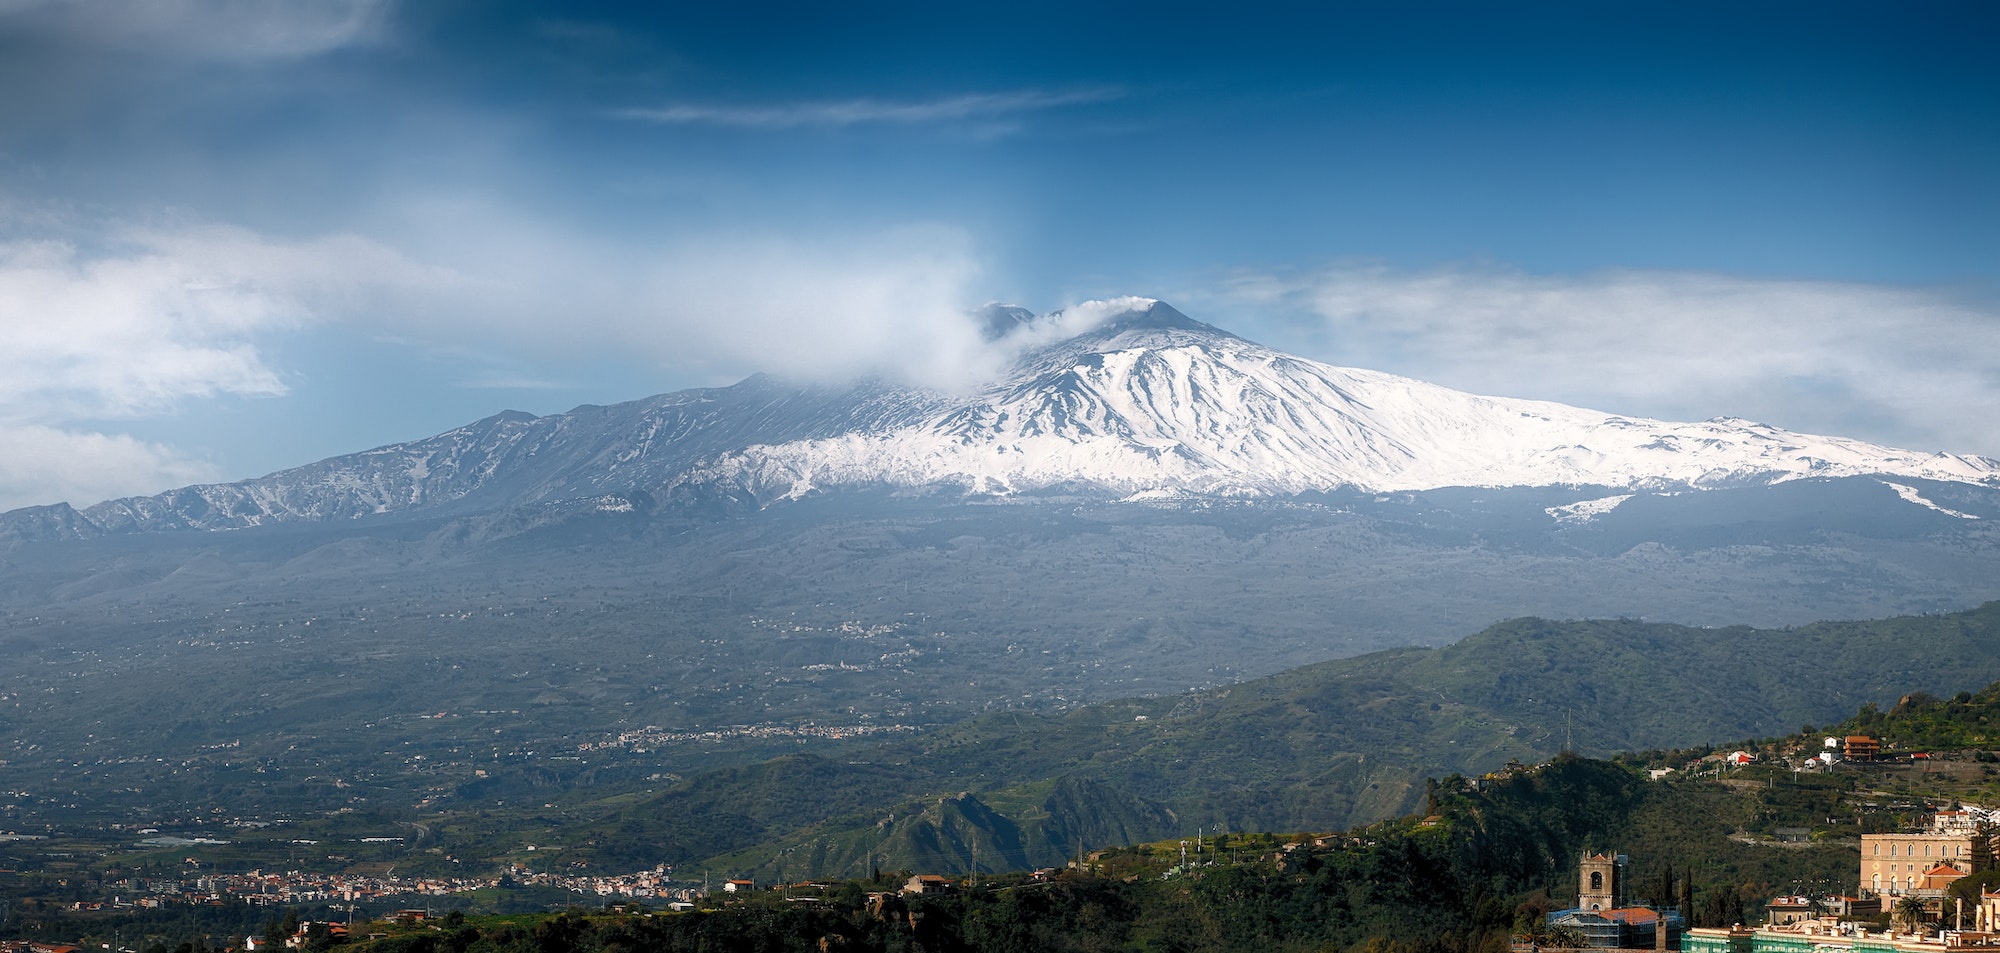
<svg viewBox="0 0 2000 953">
<path fill-rule="evenodd" d="M 984 298 L 982 262 L 960 228 L 790 228 L 644 244 L 476 200 L 430 202 L 418 218 L 450 228 L 412 240 L 464 286 L 404 308 L 396 334 L 504 350 L 514 368 L 504 376 L 520 372 L 520 358 L 546 366 L 606 354 L 712 382 L 768 370 L 958 386 L 994 370 L 966 314 Z"/>
</svg>

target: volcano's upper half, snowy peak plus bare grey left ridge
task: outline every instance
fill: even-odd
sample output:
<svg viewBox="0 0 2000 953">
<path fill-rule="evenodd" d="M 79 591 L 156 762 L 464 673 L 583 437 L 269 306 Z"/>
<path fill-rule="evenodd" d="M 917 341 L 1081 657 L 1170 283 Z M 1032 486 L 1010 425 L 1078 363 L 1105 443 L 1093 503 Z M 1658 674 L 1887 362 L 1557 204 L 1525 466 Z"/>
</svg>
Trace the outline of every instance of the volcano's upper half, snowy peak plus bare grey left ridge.
<svg viewBox="0 0 2000 953">
<path fill-rule="evenodd" d="M 1012 366 L 968 394 L 752 376 L 456 430 L 232 485 L 0 517 L 0 539 L 236 529 L 842 487 L 1280 497 L 1444 487 L 1706 489 L 1806 476 L 2000 487 L 2000 460 L 1476 396 L 1286 354 L 1152 298 L 990 306 Z"/>
</svg>

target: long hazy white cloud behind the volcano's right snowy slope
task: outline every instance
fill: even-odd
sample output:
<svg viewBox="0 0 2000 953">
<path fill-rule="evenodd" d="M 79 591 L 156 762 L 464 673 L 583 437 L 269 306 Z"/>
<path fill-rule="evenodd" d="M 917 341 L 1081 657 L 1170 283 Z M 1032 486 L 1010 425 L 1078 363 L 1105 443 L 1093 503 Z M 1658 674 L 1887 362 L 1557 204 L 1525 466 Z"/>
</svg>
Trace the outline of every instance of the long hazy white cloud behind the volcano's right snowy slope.
<svg viewBox="0 0 2000 953">
<path fill-rule="evenodd" d="M 1244 274 L 1214 302 L 1310 314 L 1326 360 L 1474 392 L 2000 454 L 2000 308 L 1938 290 L 1338 264 Z"/>
</svg>

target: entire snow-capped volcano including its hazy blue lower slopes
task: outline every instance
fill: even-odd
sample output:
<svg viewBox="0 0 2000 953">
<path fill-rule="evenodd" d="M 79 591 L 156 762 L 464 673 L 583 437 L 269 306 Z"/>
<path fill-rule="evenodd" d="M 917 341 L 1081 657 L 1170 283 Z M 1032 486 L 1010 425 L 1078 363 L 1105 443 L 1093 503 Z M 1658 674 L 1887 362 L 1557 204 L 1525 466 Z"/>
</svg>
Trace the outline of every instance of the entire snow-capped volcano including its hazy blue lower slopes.
<svg viewBox="0 0 2000 953">
<path fill-rule="evenodd" d="M 6 817 L 638 797 L 1516 617 L 2000 597 L 1990 458 L 1474 396 L 1146 298 L 984 316 L 1012 360 L 964 392 L 752 376 L 0 515 Z"/>
</svg>

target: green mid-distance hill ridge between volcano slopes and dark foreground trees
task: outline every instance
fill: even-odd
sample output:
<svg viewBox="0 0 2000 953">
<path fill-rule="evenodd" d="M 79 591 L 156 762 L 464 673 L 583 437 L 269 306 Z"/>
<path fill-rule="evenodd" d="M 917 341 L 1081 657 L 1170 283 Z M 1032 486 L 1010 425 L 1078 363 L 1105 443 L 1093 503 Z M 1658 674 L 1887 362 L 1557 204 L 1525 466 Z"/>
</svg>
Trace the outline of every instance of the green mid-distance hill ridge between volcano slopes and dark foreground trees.
<svg viewBox="0 0 2000 953">
<path fill-rule="evenodd" d="M 586 833 L 612 867 L 760 875 L 1058 863 L 1196 829 L 1332 831 L 1426 777 L 1792 735 L 1912 691 L 2000 679 L 2000 603 L 1796 629 L 1518 619 L 1226 689 L 998 715 L 842 757 L 688 779 Z"/>
</svg>

